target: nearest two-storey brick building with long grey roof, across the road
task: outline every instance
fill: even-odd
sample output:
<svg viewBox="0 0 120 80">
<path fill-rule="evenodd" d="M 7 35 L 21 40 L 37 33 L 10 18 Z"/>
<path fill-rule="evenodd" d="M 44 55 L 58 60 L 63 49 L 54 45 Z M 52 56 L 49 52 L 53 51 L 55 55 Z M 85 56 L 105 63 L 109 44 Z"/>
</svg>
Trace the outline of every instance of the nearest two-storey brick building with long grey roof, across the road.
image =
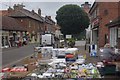
<svg viewBox="0 0 120 80">
<path fill-rule="evenodd" d="M 13 10 L 8 10 L 10 12 L 8 16 L 17 19 L 26 28 L 27 32 L 25 35 L 29 37 L 31 42 L 39 42 L 40 33 L 44 31 L 41 15 L 35 13 L 34 10 L 29 11 L 24 9 L 24 6 L 20 4 L 14 5 L 13 7 Z"/>
</svg>

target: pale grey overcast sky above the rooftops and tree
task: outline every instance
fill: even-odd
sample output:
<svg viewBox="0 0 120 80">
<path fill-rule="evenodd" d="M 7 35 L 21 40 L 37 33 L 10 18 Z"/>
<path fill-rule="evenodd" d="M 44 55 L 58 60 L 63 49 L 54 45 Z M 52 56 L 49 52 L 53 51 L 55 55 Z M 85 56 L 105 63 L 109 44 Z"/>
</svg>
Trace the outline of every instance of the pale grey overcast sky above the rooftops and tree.
<svg viewBox="0 0 120 80">
<path fill-rule="evenodd" d="M 34 2 L 27 2 L 27 1 L 16 1 L 16 2 L 13 2 L 13 0 L 9 0 L 7 2 L 2 2 L 0 3 L 0 10 L 1 9 L 7 9 L 9 6 L 13 7 L 14 4 L 21 4 L 23 3 L 25 5 L 25 8 L 28 9 L 28 10 L 35 10 L 35 12 L 37 13 L 37 10 L 40 8 L 41 9 L 41 12 L 42 12 L 42 16 L 51 16 L 52 19 L 54 21 L 55 20 L 55 16 L 56 16 L 56 11 L 62 7 L 63 5 L 66 5 L 66 4 L 77 4 L 79 6 L 81 6 L 81 4 L 83 4 L 84 2 L 89 2 L 90 4 L 93 4 L 94 0 L 79 0 L 80 2 L 78 1 L 66 1 L 66 2 L 57 2 L 57 1 L 53 1 L 53 2 L 40 2 L 40 1 L 34 1 Z"/>
</svg>

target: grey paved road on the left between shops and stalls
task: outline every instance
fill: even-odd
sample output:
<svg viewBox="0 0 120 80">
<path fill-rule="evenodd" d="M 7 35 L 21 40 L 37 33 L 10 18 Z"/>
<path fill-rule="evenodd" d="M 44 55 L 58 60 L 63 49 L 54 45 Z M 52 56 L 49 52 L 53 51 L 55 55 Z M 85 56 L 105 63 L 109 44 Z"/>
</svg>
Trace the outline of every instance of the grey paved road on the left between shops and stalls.
<svg viewBox="0 0 120 80">
<path fill-rule="evenodd" d="M 20 48 L 3 49 L 2 66 L 4 67 L 10 64 L 14 64 L 17 61 L 32 55 L 34 53 L 35 45 L 36 44 L 29 44 Z"/>
</svg>

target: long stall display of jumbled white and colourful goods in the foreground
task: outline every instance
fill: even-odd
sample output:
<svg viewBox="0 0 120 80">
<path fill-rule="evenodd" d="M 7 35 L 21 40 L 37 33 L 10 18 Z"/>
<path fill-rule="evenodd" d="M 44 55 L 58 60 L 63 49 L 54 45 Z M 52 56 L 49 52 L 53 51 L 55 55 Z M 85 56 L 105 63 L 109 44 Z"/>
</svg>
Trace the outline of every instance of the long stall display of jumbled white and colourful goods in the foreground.
<svg viewBox="0 0 120 80">
<path fill-rule="evenodd" d="M 85 57 L 77 54 L 77 48 L 53 49 L 52 59 L 47 63 L 40 78 L 100 78 L 100 73 L 93 63 L 85 64 Z M 65 56 L 65 57 L 59 57 Z M 74 60 L 74 61 L 72 61 Z M 37 75 L 37 77 L 38 77 Z"/>
</svg>

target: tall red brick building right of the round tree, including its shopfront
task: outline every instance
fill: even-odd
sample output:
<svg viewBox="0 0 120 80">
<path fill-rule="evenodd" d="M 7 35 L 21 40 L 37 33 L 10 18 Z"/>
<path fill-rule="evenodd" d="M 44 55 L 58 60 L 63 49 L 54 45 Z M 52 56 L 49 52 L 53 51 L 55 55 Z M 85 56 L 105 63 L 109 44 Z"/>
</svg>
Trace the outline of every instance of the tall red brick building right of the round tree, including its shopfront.
<svg viewBox="0 0 120 80">
<path fill-rule="evenodd" d="M 105 25 L 118 17 L 118 2 L 94 2 L 90 11 L 92 44 L 103 47 L 109 43 L 109 30 Z"/>
</svg>

